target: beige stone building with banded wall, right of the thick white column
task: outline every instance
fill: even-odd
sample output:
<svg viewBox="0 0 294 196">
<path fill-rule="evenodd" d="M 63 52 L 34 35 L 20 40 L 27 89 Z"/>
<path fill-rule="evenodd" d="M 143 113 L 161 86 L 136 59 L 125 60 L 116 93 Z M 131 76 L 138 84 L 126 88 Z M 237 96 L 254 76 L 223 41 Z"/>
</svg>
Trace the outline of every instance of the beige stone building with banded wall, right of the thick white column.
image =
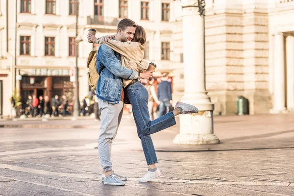
<svg viewBox="0 0 294 196">
<path fill-rule="evenodd" d="M 206 89 L 215 104 L 214 113 L 236 114 L 239 96 L 248 98 L 250 114 L 293 112 L 294 22 L 291 18 L 294 17 L 294 2 L 205 2 Z M 177 19 L 173 23 L 174 35 L 181 34 L 177 30 L 181 18 Z M 284 41 L 280 42 L 283 47 L 280 54 L 277 54 L 277 39 L 274 38 L 278 33 Z M 174 41 L 182 42 L 176 38 Z M 179 46 L 177 54 L 181 52 Z M 277 81 L 284 82 L 279 85 Z M 183 91 L 180 86 L 176 87 Z"/>
</svg>

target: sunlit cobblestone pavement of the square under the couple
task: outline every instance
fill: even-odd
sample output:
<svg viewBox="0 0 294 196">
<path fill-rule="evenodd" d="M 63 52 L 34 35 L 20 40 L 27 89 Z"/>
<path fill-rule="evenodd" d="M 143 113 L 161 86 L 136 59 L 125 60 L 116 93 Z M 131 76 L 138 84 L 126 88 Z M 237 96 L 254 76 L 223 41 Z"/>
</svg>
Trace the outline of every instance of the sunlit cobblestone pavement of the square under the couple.
<svg viewBox="0 0 294 196">
<path fill-rule="evenodd" d="M 178 126 L 152 136 L 162 176 L 148 183 L 133 119 L 112 162 L 125 186 L 100 181 L 99 123 L 1 121 L 0 196 L 294 196 L 294 115 L 215 117 L 219 145 L 178 146 Z"/>
</svg>

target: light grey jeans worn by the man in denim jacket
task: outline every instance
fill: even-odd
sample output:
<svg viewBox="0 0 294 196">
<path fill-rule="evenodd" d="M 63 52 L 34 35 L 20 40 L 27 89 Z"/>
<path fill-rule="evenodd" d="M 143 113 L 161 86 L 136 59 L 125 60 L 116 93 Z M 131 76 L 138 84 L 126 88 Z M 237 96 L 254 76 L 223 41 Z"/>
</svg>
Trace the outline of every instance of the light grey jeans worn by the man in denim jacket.
<svg viewBox="0 0 294 196">
<path fill-rule="evenodd" d="M 98 99 L 98 105 L 101 111 L 101 131 L 98 139 L 99 159 L 104 172 L 107 172 L 112 170 L 110 161 L 111 145 L 122 120 L 123 102 L 113 104 Z"/>
</svg>

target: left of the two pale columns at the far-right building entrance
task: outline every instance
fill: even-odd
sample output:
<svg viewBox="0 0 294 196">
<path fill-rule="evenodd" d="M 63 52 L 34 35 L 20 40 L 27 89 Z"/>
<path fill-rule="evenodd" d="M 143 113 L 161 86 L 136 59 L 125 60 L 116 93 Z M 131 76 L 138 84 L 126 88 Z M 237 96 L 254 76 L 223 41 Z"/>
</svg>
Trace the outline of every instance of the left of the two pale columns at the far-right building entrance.
<svg viewBox="0 0 294 196">
<path fill-rule="evenodd" d="M 285 57 L 284 35 L 274 36 L 274 106 L 273 113 L 285 110 Z"/>
</svg>

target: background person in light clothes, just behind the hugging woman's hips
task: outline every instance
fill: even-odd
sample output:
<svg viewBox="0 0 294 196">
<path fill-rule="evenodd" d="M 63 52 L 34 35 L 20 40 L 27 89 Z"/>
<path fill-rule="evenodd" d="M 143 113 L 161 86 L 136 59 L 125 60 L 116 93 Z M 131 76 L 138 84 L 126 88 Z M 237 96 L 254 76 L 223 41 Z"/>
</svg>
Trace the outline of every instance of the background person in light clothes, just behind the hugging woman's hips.
<svg viewBox="0 0 294 196">
<path fill-rule="evenodd" d="M 148 111 L 149 111 L 150 119 L 152 121 L 155 119 L 154 118 L 155 111 L 153 109 L 154 101 L 156 102 L 157 105 L 160 104 L 160 101 L 158 100 L 156 92 L 155 92 L 155 88 L 153 86 L 154 81 L 155 81 L 155 78 L 150 77 L 145 86 L 148 92 Z"/>
</svg>

